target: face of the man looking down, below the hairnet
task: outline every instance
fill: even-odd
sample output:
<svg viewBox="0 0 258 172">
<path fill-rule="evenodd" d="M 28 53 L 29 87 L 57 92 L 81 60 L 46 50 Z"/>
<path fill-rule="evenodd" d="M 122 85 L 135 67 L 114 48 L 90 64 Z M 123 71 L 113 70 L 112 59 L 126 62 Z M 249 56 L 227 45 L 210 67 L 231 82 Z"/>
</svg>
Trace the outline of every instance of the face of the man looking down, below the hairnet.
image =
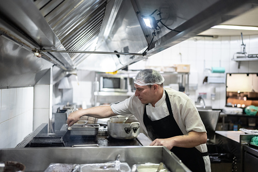
<svg viewBox="0 0 258 172">
<path fill-rule="evenodd" d="M 148 85 L 140 86 L 135 84 L 136 88 L 135 96 L 139 98 L 139 100 L 142 102 L 142 104 L 149 104 L 153 100 L 153 89 L 149 87 Z"/>
</svg>

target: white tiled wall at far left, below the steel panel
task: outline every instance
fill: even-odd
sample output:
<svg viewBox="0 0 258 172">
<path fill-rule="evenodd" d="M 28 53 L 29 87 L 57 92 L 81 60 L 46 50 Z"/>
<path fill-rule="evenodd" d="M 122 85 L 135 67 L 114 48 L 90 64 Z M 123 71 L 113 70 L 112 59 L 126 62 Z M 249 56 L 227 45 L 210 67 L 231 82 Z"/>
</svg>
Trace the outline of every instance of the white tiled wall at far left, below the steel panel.
<svg viewBox="0 0 258 172">
<path fill-rule="evenodd" d="M 14 148 L 33 131 L 34 88 L 0 89 L 0 148 Z"/>
</svg>

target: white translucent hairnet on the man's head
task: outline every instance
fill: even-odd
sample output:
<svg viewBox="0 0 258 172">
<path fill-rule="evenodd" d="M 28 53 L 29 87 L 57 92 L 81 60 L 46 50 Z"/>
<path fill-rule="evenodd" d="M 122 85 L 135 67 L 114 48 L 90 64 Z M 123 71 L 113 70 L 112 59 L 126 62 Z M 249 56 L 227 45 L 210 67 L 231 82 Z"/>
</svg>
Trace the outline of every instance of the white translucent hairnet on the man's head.
<svg viewBox="0 0 258 172">
<path fill-rule="evenodd" d="M 154 84 L 162 84 L 164 83 L 165 79 L 162 75 L 159 74 L 159 72 L 152 70 L 152 69 L 146 69 L 140 71 L 136 77 L 135 77 L 135 84 L 144 86 L 144 85 L 154 85 Z"/>
</svg>

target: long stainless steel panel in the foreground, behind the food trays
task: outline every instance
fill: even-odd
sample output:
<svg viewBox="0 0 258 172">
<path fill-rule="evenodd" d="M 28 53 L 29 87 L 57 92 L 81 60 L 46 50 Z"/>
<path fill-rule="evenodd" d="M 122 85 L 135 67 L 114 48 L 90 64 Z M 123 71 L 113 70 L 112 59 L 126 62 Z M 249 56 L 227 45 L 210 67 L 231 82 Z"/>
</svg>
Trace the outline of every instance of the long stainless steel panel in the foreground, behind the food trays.
<svg viewBox="0 0 258 172">
<path fill-rule="evenodd" d="M 171 171 L 190 171 L 167 148 L 144 147 L 99 147 L 99 148 L 16 148 L 0 150 L 0 161 L 18 161 L 26 171 L 44 171 L 50 163 L 105 163 L 114 161 L 120 154 L 120 161 L 134 164 L 163 162 Z"/>
</svg>

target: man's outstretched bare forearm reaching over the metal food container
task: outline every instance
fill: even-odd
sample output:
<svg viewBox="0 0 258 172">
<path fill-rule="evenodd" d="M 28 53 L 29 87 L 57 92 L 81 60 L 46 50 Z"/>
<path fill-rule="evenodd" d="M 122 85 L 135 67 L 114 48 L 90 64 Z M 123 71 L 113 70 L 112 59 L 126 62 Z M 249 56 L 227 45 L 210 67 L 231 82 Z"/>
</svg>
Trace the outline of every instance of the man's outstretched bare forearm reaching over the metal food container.
<svg viewBox="0 0 258 172">
<path fill-rule="evenodd" d="M 69 115 L 67 119 L 68 126 L 72 126 L 84 115 L 94 118 L 108 118 L 111 116 L 115 116 L 116 114 L 112 111 L 111 106 L 99 106 L 78 110 Z"/>
</svg>

